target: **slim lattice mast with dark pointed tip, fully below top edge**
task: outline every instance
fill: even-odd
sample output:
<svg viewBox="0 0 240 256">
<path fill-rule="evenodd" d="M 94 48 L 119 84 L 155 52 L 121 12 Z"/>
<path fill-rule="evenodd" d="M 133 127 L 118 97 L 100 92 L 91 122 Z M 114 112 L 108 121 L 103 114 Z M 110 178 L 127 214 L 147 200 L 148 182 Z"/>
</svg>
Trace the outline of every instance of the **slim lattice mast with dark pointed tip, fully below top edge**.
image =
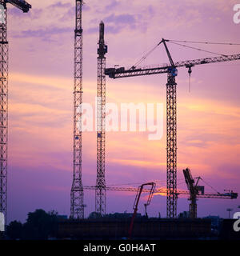
<svg viewBox="0 0 240 256">
<path fill-rule="evenodd" d="M 98 88 L 97 88 L 97 181 L 95 190 L 95 211 L 106 214 L 105 183 L 105 116 L 106 116 L 106 69 L 107 46 L 104 42 L 104 23 L 99 24 L 98 42 Z"/>
</svg>

